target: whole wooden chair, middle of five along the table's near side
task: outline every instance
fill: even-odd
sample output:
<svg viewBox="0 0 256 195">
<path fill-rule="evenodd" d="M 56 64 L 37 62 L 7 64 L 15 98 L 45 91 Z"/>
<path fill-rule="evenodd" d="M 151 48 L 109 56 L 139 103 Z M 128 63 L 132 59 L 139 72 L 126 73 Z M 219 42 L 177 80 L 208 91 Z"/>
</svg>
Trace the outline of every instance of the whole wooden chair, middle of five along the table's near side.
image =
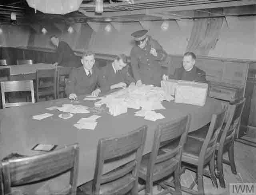
<svg viewBox="0 0 256 195">
<path fill-rule="evenodd" d="M 174 173 L 175 191 L 181 195 L 180 188 L 180 166 L 183 145 L 188 135 L 190 115 L 181 119 L 158 125 L 155 131 L 154 142 L 151 153 L 142 157 L 139 177 L 146 181 L 146 194 L 153 194 L 153 183 Z M 164 152 L 161 146 L 178 141 L 178 145 L 171 152 Z M 164 191 L 160 194 L 175 193 L 170 187 L 160 183 Z"/>
</svg>

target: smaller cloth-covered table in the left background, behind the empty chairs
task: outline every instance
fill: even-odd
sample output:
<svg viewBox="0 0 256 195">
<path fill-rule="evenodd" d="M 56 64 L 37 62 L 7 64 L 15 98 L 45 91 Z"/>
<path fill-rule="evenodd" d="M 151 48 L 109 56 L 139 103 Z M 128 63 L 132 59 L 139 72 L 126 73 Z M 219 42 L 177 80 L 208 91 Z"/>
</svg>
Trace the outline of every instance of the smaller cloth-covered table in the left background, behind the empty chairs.
<svg viewBox="0 0 256 195">
<path fill-rule="evenodd" d="M 34 80 L 36 79 L 36 70 L 54 69 L 52 64 L 20 64 L 12 66 L 0 66 L 0 69 L 10 68 L 10 80 Z M 60 66 L 58 66 L 60 68 Z"/>
</svg>

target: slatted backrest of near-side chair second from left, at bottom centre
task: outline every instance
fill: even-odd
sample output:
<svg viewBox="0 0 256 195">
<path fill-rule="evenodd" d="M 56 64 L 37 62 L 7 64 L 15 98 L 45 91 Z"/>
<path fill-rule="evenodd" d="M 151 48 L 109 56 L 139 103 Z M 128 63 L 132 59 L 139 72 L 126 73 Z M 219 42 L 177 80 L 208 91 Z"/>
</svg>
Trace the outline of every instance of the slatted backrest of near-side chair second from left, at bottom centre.
<svg viewBox="0 0 256 195">
<path fill-rule="evenodd" d="M 138 168 L 142 158 L 147 128 L 147 126 L 142 126 L 121 137 L 103 138 L 99 140 L 96 168 L 92 182 L 93 194 L 99 194 L 100 184 L 114 181 L 129 173 L 134 178 L 134 185 L 138 185 Z M 111 163 L 133 154 L 135 154 L 135 159 L 129 163 L 129 166 L 123 166 L 117 171 L 112 171 L 109 177 L 102 175 L 104 161 Z"/>
</svg>

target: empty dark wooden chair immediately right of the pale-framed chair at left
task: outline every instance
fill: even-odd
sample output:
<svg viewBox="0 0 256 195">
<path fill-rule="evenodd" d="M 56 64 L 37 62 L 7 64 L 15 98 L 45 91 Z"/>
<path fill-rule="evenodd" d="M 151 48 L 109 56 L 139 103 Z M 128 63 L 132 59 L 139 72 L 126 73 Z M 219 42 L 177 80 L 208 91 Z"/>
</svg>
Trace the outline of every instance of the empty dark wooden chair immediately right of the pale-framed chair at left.
<svg viewBox="0 0 256 195">
<path fill-rule="evenodd" d="M 39 102 L 40 96 L 53 95 L 56 99 L 56 69 L 36 70 L 36 101 Z"/>
</svg>

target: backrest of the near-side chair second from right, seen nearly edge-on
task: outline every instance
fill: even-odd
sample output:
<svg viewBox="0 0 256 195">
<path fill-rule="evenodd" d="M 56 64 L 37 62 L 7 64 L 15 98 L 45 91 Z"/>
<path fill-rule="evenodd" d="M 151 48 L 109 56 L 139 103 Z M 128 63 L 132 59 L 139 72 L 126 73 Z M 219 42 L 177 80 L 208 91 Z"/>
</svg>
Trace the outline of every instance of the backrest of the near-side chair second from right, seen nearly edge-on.
<svg viewBox="0 0 256 195">
<path fill-rule="evenodd" d="M 224 123 L 225 116 L 226 109 L 222 109 L 218 113 L 214 113 L 212 115 L 208 133 L 204 139 L 204 143 L 199 154 L 199 162 L 208 163 L 214 154 L 216 141 Z"/>
</svg>

